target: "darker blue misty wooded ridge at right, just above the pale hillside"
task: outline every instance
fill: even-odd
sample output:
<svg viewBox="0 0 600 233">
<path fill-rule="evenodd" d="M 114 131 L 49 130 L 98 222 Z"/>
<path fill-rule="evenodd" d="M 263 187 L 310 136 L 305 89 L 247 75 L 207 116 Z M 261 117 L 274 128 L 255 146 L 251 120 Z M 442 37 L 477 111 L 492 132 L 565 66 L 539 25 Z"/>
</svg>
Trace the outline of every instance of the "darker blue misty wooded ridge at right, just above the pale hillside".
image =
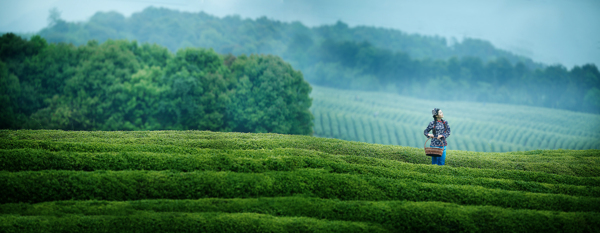
<svg viewBox="0 0 600 233">
<path fill-rule="evenodd" d="M 594 64 L 568 70 L 561 65 L 529 69 L 505 58 L 411 59 L 368 42 L 325 41 L 307 66 L 322 86 L 391 90 L 432 100 L 510 103 L 600 112 L 600 72 Z"/>
</svg>

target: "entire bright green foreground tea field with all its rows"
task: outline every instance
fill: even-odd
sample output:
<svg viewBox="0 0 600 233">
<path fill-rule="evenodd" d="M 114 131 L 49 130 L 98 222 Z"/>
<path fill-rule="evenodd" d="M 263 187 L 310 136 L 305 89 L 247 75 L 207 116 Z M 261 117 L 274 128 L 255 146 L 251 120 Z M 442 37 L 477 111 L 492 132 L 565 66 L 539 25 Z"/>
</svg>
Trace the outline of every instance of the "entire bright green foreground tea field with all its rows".
<svg viewBox="0 0 600 233">
<path fill-rule="evenodd" d="M 0 131 L 0 232 L 599 232 L 600 150 Z"/>
</svg>

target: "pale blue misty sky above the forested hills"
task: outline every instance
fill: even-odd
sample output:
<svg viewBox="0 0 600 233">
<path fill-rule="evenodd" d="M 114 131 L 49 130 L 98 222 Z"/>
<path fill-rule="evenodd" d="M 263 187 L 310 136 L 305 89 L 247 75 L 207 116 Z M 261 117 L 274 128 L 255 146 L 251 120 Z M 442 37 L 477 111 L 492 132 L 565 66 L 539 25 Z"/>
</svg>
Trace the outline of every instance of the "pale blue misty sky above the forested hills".
<svg viewBox="0 0 600 233">
<path fill-rule="evenodd" d="M 39 31 L 53 7 L 67 21 L 85 21 L 97 11 L 130 16 L 148 6 L 480 38 L 537 62 L 600 65 L 600 0 L 0 0 L 0 32 Z"/>
</svg>

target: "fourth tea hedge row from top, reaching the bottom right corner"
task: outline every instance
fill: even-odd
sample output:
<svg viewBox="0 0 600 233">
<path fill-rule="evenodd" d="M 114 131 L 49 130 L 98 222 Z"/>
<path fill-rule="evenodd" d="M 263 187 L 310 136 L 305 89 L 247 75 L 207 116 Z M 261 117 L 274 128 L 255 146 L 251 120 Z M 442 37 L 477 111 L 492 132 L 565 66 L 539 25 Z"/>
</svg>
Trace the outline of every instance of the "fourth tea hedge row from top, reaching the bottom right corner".
<svg viewBox="0 0 600 233">
<path fill-rule="evenodd" d="M 461 206 L 443 202 L 410 202 L 410 201 L 340 201 L 306 197 L 279 198 L 206 198 L 198 200 L 141 200 L 141 201 L 59 201 L 39 204 L 4 204 L 0 211 L 5 214 L 22 216 L 39 216 L 52 218 L 55 216 L 131 216 L 148 214 L 150 211 L 159 214 L 168 213 L 168 217 L 189 218 L 187 214 L 174 213 L 219 213 L 221 216 L 282 216 L 284 222 L 298 224 L 301 220 L 317 224 L 316 229 L 326 223 L 344 226 L 348 222 L 370 222 L 381 225 L 388 230 L 398 232 L 445 232 L 445 231 L 526 231 L 531 229 L 544 232 L 593 231 L 590 227 L 600 222 L 600 214 L 596 212 L 567 213 L 538 210 L 511 210 L 493 206 Z M 241 215 L 244 213 L 245 215 Z M 436 225 L 430 224 L 428 216 L 437 219 Z M 296 219 L 294 219 L 294 217 Z M 505 221 L 490 221 L 494 218 Z M 136 219 L 140 221 L 139 219 Z M 160 219 L 162 220 L 162 219 Z M 240 219 L 236 219 L 239 221 Z M 271 219 L 268 219 L 268 221 Z M 164 220 L 163 220 L 164 221 Z M 135 223 L 138 223 L 137 221 Z M 242 225 L 244 222 L 242 222 Z M 320 223 L 320 224 L 318 224 Z M 507 224 L 512 223 L 512 224 Z M 331 224 L 331 225 L 334 225 Z M 358 227 L 360 223 L 354 223 Z M 367 225 L 365 223 L 362 223 Z M 75 224 L 73 224 L 75 225 Z M 300 224 L 299 224 L 300 225 Z M 351 225 L 352 226 L 352 225 Z M 368 226 L 368 225 L 367 225 Z M 365 231 L 378 230 L 376 227 L 364 227 Z M 338 226 L 339 227 L 339 226 Z M 76 228 L 73 226 L 73 228 Z M 355 229 L 342 228 L 343 230 Z M 302 228 L 300 228 L 302 229 Z M 340 230 L 342 230 L 340 229 Z M 323 229 L 325 230 L 325 229 Z M 327 229 L 331 230 L 331 229 Z"/>
</svg>

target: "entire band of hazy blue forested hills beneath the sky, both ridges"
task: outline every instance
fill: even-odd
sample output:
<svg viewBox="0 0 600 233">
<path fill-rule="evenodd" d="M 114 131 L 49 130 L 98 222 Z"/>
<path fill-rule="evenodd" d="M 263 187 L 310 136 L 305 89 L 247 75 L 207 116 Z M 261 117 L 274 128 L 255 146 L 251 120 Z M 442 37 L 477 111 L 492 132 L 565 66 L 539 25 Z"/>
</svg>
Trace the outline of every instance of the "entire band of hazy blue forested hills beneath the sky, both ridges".
<svg viewBox="0 0 600 233">
<path fill-rule="evenodd" d="M 55 14 L 39 35 L 77 45 L 123 38 L 171 51 L 205 47 L 236 56 L 275 54 L 317 85 L 600 112 L 600 75 L 594 64 L 545 66 L 478 39 L 450 44 L 442 37 L 343 22 L 309 28 L 265 17 L 218 18 L 152 7 L 128 18 L 99 12 L 77 23 Z"/>
</svg>

